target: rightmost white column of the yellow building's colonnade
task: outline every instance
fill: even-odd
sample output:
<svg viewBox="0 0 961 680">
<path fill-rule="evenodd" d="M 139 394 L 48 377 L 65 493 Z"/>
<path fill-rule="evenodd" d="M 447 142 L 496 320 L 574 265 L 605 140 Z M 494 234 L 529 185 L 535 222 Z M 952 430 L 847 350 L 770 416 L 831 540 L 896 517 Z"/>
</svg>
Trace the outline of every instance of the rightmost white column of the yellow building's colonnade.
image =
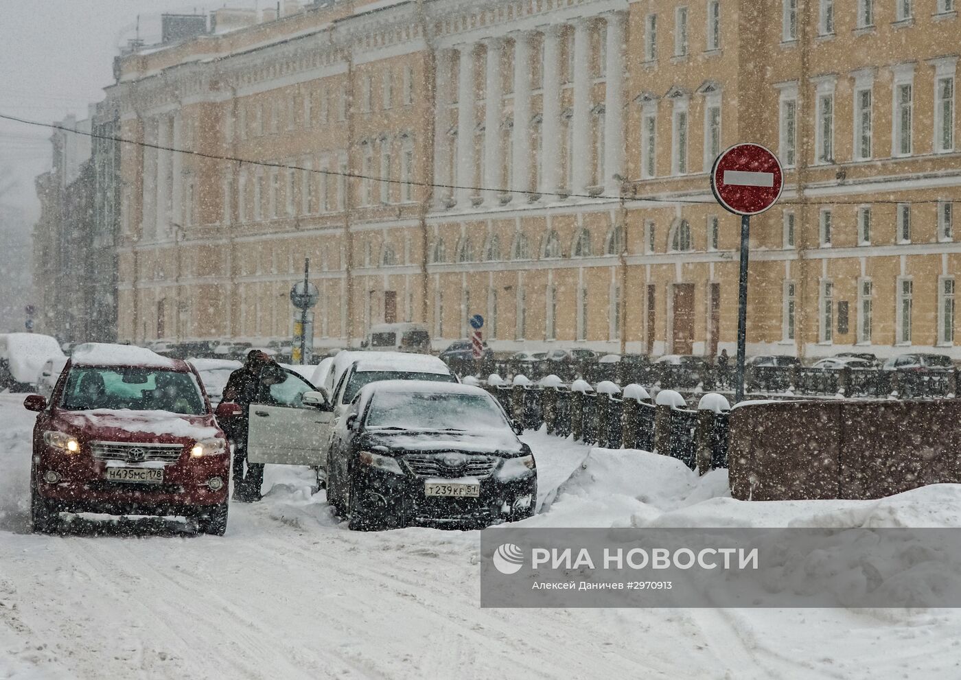
<svg viewBox="0 0 961 680">
<path fill-rule="evenodd" d="M 604 85 L 604 191 L 619 195 L 624 171 L 624 24 L 625 12 L 610 12 L 607 20 L 607 63 Z"/>
</svg>

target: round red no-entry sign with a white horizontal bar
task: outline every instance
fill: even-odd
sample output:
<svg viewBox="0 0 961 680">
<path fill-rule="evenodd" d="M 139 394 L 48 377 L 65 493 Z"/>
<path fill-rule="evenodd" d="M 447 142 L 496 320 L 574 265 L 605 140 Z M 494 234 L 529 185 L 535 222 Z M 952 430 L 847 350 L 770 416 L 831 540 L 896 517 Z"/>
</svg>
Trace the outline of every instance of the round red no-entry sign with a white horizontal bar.
<svg viewBox="0 0 961 680">
<path fill-rule="evenodd" d="M 735 144 L 711 170 L 714 198 L 738 215 L 764 212 L 775 205 L 783 188 L 780 161 L 760 144 Z"/>
</svg>

